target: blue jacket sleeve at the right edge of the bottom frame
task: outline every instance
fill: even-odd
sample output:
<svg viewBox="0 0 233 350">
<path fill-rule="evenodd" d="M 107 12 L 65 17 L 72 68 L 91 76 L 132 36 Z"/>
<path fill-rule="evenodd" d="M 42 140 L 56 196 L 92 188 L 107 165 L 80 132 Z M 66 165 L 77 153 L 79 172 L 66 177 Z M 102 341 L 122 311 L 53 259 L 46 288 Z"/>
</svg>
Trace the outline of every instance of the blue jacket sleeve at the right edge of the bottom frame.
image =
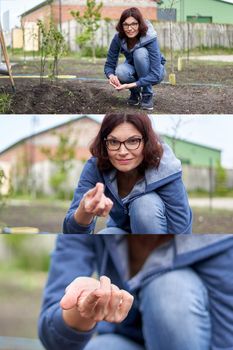
<svg viewBox="0 0 233 350">
<path fill-rule="evenodd" d="M 222 242 L 226 248 L 192 267 L 201 277 L 208 292 L 211 316 L 211 349 L 233 349 L 233 235 Z M 227 248 L 227 245 L 231 247 Z"/>
</svg>

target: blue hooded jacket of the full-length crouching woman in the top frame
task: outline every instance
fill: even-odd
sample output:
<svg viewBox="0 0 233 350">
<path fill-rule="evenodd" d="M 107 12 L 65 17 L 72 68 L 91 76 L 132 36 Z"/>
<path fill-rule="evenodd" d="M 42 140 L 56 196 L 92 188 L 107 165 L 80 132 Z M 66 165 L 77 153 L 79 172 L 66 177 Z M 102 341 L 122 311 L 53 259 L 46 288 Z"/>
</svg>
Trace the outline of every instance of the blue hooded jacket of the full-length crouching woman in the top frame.
<svg viewBox="0 0 233 350">
<path fill-rule="evenodd" d="M 146 85 L 155 85 L 160 83 L 163 79 L 164 68 L 162 67 L 166 60 L 163 55 L 160 53 L 159 44 L 157 40 L 157 33 L 154 30 L 152 24 L 147 21 L 148 30 L 145 36 L 140 37 L 138 43 L 133 47 L 133 49 L 129 50 L 127 48 L 127 43 L 125 39 L 120 39 L 119 34 L 115 34 L 110 48 L 108 50 L 107 61 L 104 66 L 104 73 L 107 78 L 110 74 L 115 75 L 115 70 L 117 67 L 117 62 L 120 53 L 122 53 L 126 62 L 134 65 L 133 63 L 133 52 L 141 47 L 145 47 L 149 53 L 150 59 L 150 72 L 147 76 L 140 78 L 136 84 L 138 87 L 146 86 Z"/>
</svg>

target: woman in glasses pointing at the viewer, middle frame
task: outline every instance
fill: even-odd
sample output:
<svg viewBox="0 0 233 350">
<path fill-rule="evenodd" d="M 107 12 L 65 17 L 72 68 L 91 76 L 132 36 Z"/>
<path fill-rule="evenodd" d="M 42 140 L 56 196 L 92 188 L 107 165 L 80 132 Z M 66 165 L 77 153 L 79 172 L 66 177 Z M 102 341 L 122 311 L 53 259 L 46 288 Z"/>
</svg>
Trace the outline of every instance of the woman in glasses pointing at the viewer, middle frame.
<svg viewBox="0 0 233 350">
<path fill-rule="evenodd" d="M 191 233 L 180 161 L 147 115 L 106 115 L 90 151 L 64 233 L 91 233 L 108 214 L 107 233 Z"/>
</svg>

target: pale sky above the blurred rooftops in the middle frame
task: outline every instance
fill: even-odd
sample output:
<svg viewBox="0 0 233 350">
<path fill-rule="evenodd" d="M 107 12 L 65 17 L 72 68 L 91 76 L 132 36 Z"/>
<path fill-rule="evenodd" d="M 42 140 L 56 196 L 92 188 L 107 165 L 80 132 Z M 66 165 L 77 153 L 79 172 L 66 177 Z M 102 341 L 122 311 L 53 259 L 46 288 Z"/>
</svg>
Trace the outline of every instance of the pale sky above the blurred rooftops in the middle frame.
<svg viewBox="0 0 233 350">
<path fill-rule="evenodd" d="M 102 116 L 92 116 L 97 120 L 102 119 Z M 77 118 L 77 115 L 2 115 L 0 152 L 26 136 L 73 118 Z M 177 137 L 222 150 L 222 165 L 233 169 L 233 115 L 154 115 L 152 120 L 158 133 L 170 136 L 174 136 L 174 128 L 179 123 Z"/>
</svg>

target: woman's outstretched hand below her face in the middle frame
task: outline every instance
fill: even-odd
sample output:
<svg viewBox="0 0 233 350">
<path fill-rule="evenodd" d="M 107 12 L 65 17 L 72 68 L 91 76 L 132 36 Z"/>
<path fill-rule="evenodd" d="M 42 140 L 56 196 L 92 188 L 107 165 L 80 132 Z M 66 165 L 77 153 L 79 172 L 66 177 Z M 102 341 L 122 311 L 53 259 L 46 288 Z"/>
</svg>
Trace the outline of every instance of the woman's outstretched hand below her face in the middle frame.
<svg viewBox="0 0 233 350">
<path fill-rule="evenodd" d="M 104 185 L 98 182 L 84 194 L 74 217 L 79 224 L 88 225 L 94 216 L 107 216 L 112 206 L 113 202 L 104 194 Z"/>
</svg>

